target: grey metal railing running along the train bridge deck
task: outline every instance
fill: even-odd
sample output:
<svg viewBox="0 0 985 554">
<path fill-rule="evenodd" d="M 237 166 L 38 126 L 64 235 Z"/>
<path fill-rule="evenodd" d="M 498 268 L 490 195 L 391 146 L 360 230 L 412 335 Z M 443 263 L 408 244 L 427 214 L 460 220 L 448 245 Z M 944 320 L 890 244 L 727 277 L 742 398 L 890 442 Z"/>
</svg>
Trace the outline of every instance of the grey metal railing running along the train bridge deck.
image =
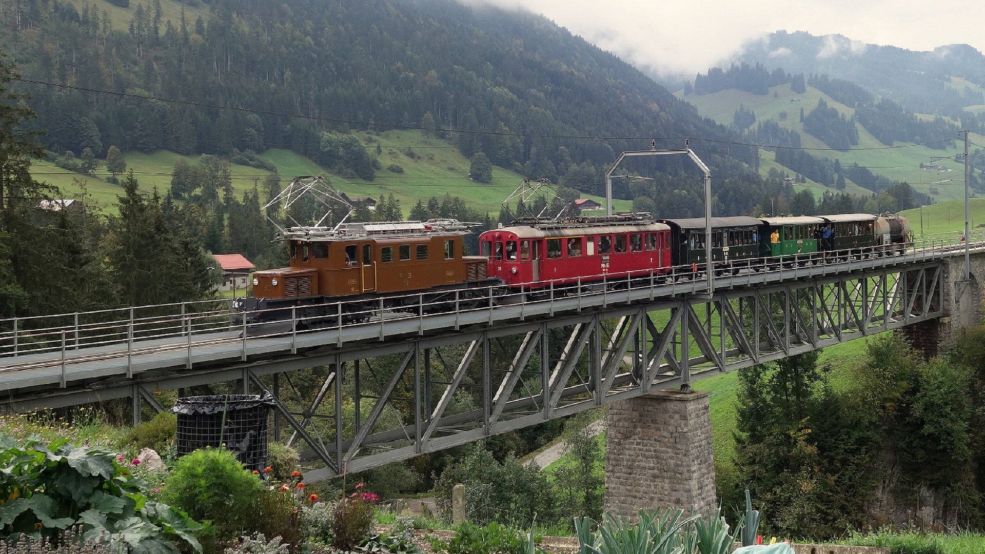
<svg viewBox="0 0 985 554">
<path fill-rule="evenodd" d="M 970 238 L 969 246 L 985 246 L 985 230 L 975 230 Z M 902 247 L 905 249 L 900 251 Z M 808 265 L 836 264 L 851 259 L 881 256 L 886 256 L 886 259 L 893 262 L 918 261 L 918 256 L 926 256 L 928 252 L 943 254 L 963 247 L 963 233 L 924 235 L 907 244 L 811 252 L 780 259 L 756 258 L 738 271 L 746 274 L 763 273 L 769 277 L 769 282 L 779 282 L 792 271 Z M 725 271 L 735 271 L 722 268 L 721 262 L 716 262 L 716 265 L 720 268 L 716 273 L 720 275 Z M 696 267 L 683 265 L 631 272 L 628 275 L 622 272 L 618 278 L 599 274 L 583 276 L 574 282 L 567 279 L 527 283 L 515 286 L 505 294 L 503 288 L 498 286 L 470 289 L 468 292 L 459 290 L 443 295 L 414 293 L 388 297 L 388 306 L 384 306 L 382 300 L 378 305 L 367 304 L 365 301 L 343 301 L 318 307 L 243 313 L 230 309 L 230 300 L 224 299 L 8 318 L 0 319 L 0 358 L 48 354 L 45 363 L 50 365 L 50 354 L 57 352 L 64 365 L 68 357 L 72 357 L 73 363 L 80 361 L 81 358 L 73 355 L 73 351 L 83 348 L 89 349 L 86 359 L 114 356 L 130 358 L 134 354 L 185 348 L 188 350 L 190 364 L 193 346 L 241 341 L 245 353 L 248 341 L 284 336 L 285 333 L 296 336 L 325 328 L 342 329 L 352 325 L 378 325 L 383 333 L 386 322 L 395 319 L 417 317 L 423 321 L 427 315 L 436 313 L 492 312 L 495 306 L 503 304 L 549 303 L 553 312 L 554 303 L 572 296 L 579 299 L 578 308 L 581 307 L 581 299 L 585 299 L 586 305 L 605 306 L 607 295 L 615 296 L 617 293 L 614 289 L 649 289 L 653 297 L 669 294 L 671 287 L 677 289 L 675 292 L 681 292 L 682 285 L 689 285 L 690 292 L 703 292 L 704 273 L 703 264 Z M 307 309 L 312 308 L 319 310 L 317 317 L 305 314 Z M 277 316 L 272 317 L 275 313 Z M 282 324 L 271 325 L 272 319 L 277 319 Z M 25 360 L 24 364 L 4 365 L 7 369 L 28 369 L 32 364 Z"/>
</svg>

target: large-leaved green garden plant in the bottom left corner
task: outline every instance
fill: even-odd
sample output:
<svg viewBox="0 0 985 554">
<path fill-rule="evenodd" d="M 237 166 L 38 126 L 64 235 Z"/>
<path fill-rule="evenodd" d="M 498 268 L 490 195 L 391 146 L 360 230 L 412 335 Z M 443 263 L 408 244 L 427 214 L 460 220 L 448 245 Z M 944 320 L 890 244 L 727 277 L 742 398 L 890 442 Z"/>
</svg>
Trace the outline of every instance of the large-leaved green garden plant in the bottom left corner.
<svg viewBox="0 0 985 554">
<path fill-rule="evenodd" d="M 27 534 L 56 539 L 81 525 L 83 541 L 108 542 L 131 553 L 176 552 L 172 539 L 202 547 L 192 531 L 202 525 L 150 500 L 147 486 L 110 452 L 19 443 L 0 435 L 0 539 Z"/>
</svg>

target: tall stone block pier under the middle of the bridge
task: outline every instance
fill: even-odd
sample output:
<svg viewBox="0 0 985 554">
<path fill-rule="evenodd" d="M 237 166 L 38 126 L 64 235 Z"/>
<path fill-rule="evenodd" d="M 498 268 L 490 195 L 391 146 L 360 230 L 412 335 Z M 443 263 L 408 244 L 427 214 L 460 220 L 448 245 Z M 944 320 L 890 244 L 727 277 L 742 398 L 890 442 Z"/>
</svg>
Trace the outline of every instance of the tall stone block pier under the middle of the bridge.
<svg viewBox="0 0 985 554">
<path fill-rule="evenodd" d="M 607 512 L 717 506 L 708 394 L 665 390 L 609 408 Z"/>
</svg>

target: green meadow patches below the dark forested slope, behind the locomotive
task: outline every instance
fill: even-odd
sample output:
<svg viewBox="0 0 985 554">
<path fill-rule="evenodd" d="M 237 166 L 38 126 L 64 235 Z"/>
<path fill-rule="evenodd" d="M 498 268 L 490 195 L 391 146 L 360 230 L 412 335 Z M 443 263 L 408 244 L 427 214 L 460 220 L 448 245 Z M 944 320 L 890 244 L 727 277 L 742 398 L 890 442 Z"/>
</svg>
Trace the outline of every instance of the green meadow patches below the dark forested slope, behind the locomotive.
<svg viewBox="0 0 985 554">
<path fill-rule="evenodd" d="M 378 157 L 382 169 L 376 172 L 372 180 L 333 175 L 310 159 L 290 150 L 271 149 L 261 157 L 277 166 L 277 173 L 281 175 L 283 184 L 299 175 L 325 175 L 336 189 L 350 196 L 378 198 L 393 194 L 394 198 L 400 200 L 405 217 L 419 199 L 427 201 L 431 196 L 440 199 L 445 194 L 460 196 L 471 208 L 495 217 L 499 214 L 502 200 L 523 178 L 518 173 L 493 167 L 492 182 L 474 182 L 468 177 L 468 159 L 450 143 L 424 136 L 420 131 L 387 131 L 380 135 L 357 133 L 357 136 L 372 152 L 375 152 L 377 143 L 380 146 Z M 150 191 L 157 187 L 162 194 L 170 187 L 171 173 L 177 160 L 184 159 L 191 165 L 196 165 L 198 161 L 196 156 L 181 156 L 164 150 L 153 154 L 130 152 L 125 154 L 125 158 L 127 169 L 134 171 L 142 190 Z M 105 181 L 109 173 L 104 167 L 94 175 L 86 176 L 63 170 L 50 162 L 38 161 L 33 164 L 32 173 L 38 180 L 58 186 L 62 196 L 66 198 L 77 197 L 81 192 L 80 182 L 85 183 L 89 194 L 99 206 L 109 211 L 113 210 L 116 195 L 122 191 L 120 186 Z M 266 170 L 248 166 L 230 166 L 232 187 L 239 198 L 254 184 L 262 184 L 270 174 Z M 605 200 L 599 196 L 582 197 L 605 204 Z M 632 202 L 616 200 L 614 207 L 616 210 L 630 210 Z"/>
</svg>

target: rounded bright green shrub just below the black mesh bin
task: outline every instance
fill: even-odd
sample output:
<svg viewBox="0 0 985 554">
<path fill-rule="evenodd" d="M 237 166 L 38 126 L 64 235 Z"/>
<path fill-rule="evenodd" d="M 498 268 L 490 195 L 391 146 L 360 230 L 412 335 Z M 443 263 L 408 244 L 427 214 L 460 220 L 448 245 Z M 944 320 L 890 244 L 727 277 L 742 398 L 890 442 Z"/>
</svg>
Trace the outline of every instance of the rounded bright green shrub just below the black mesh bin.
<svg viewBox="0 0 985 554">
<path fill-rule="evenodd" d="M 265 487 L 226 449 L 182 456 L 164 482 L 162 498 L 194 519 L 213 521 L 216 538 L 236 536 L 254 519 Z"/>
</svg>

